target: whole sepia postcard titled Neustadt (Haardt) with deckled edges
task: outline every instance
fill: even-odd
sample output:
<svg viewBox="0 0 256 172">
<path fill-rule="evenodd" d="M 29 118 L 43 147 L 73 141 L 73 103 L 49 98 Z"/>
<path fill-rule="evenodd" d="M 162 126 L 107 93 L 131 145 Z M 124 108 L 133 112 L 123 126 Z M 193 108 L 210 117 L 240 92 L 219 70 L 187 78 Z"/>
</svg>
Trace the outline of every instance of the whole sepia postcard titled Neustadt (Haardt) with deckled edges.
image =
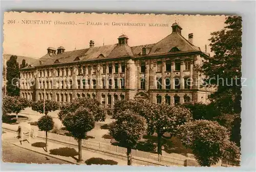
<svg viewBox="0 0 256 172">
<path fill-rule="evenodd" d="M 4 162 L 240 166 L 242 18 L 5 12 Z"/>
</svg>

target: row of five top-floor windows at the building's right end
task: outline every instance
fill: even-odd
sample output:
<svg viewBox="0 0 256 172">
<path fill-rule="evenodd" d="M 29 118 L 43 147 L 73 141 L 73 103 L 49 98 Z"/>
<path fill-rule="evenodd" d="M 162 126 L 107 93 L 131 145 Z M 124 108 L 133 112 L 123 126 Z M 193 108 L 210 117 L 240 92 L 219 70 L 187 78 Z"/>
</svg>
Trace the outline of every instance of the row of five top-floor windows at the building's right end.
<svg viewBox="0 0 256 172">
<path fill-rule="evenodd" d="M 185 63 L 185 70 L 190 70 L 190 61 L 184 61 Z M 181 62 L 175 62 L 175 70 L 180 71 Z M 166 61 L 165 62 L 165 71 L 172 71 L 172 62 Z M 145 62 L 142 62 L 140 65 L 140 72 L 145 73 L 146 72 L 146 64 Z M 162 72 L 162 61 L 157 62 L 157 72 Z"/>
</svg>

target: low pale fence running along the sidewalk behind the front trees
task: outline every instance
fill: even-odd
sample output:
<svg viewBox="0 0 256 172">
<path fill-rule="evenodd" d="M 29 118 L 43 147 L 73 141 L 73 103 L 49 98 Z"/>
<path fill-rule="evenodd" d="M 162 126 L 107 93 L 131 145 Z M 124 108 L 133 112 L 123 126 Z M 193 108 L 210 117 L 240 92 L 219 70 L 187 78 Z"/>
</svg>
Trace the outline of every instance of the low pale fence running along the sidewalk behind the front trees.
<svg viewBox="0 0 256 172">
<path fill-rule="evenodd" d="M 46 137 L 45 132 L 43 132 L 43 131 L 37 131 L 37 136 Z M 72 142 L 72 143 L 77 144 L 77 140 L 75 140 L 74 137 L 63 136 L 63 135 L 59 135 L 59 134 L 55 134 L 55 133 L 48 133 L 47 136 L 49 139 L 67 141 L 67 142 Z M 85 140 L 85 139 L 82 140 L 82 145 L 90 146 L 92 148 L 99 149 L 99 150 L 116 152 L 116 153 L 124 154 L 124 155 L 126 155 L 126 151 L 127 151 L 126 148 L 123 148 L 120 146 L 115 146 L 115 145 L 111 145 L 111 144 L 105 144 L 102 142 Z M 176 159 L 173 157 L 153 154 L 150 152 L 144 152 L 144 151 L 139 151 L 139 150 L 132 150 L 132 156 L 138 157 L 138 158 L 149 159 L 149 160 L 153 160 L 153 161 L 158 161 L 158 162 L 163 162 L 166 164 L 176 165 L 176 166 L 184 166 L 184 161 L 185 161 L 185 160 Z"/>
</svg>

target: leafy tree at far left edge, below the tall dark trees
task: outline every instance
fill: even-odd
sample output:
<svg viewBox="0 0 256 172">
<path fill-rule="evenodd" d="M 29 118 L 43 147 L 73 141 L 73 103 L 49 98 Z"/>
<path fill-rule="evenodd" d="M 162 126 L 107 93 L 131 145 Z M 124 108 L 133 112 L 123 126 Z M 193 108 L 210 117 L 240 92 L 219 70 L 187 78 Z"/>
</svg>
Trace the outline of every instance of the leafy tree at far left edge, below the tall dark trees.
<svg viewBox="0 0 256 172">
<path fill-rule="evenodd" d="M 18 113 L 25 108 L 30 106 L 30 101 L 25 98 L 18 96 L 4 96 L 3 97 L 3 108 L 7 113 L 16 113 L 16 118 Z"/>
</svg>

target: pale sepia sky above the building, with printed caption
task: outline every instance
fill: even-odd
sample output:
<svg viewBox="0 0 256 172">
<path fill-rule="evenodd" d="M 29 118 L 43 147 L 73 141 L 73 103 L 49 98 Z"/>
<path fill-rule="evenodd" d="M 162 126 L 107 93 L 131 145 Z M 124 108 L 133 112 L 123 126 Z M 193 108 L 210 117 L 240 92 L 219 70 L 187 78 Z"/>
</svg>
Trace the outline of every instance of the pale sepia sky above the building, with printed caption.
<svg viewBox="0 0 256 172">
<path fill-rule="evenodd" d="M 210 33 L 225 27 L 224 15 L 6 12 L 4 54 L 40 58 L 47 54 L 50 46 L 64 46 L 66 51 L 73 51 L 88 48 L 90 40 L 95 42 L 95 46 L 115 44 L 121 34 L 129 37 L 130 46 L 151 44 L 172 33 L 171 26 L 175 21 L 182 27 L 182 36 L 188 39 L 188 34 L 193 33 L 193 44 L 199 46 L 201 51 L 205 51 L 206 44 L 207 53 L 210 53 Z M 68 24 L 58 24 L 61 22 Z M 141 24 L 115 24 L 127 22 Z M 109 26 L 104 26 L 105 23 L 109 23 Z M 152 23 L 161 26 L 149 26 Z"/>
</svg>

